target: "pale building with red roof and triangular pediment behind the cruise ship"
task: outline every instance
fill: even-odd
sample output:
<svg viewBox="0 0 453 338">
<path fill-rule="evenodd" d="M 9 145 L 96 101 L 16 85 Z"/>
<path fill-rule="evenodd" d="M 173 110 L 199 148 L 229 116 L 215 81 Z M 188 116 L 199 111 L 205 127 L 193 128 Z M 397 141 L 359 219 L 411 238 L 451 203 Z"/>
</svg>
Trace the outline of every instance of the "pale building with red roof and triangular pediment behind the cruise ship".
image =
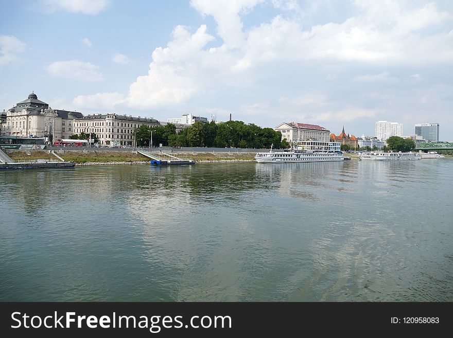
<svg viewBox="0 0 453 338">
<path fill-rule="evenodd" d="M 274 128 L 275 131 L 282 133 L 282 140 L 286 138 L 289 143 L 298 141 L 322 141 L 329 143 L 330 131 L 316 124 L 284 122 Z"/>
</svg>

